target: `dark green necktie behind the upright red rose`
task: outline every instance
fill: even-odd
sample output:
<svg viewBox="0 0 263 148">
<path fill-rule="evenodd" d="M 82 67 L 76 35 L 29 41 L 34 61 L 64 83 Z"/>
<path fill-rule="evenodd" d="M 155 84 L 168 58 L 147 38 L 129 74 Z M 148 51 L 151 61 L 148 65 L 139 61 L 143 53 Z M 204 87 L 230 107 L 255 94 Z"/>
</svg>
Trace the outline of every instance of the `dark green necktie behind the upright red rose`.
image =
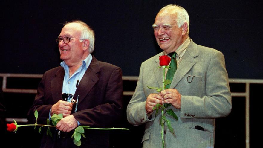
<svg viewBox="0 0 263 148">
<path fill-rule="evenodd" d="M 167 74 L 166 74 L 166 79 L 170 80 L 172 82 L 172 79 L 175 75 L 175 71 L 177 70 L 177 62 L 175 59 L 176 52 L 171 52 L 168 54 L 171 57 L 171 63 L 170 63 L 170 69 L 168 69 Z M 170 88 L 171 84 L 166 85 L 166 88 Z"/>
</svg>

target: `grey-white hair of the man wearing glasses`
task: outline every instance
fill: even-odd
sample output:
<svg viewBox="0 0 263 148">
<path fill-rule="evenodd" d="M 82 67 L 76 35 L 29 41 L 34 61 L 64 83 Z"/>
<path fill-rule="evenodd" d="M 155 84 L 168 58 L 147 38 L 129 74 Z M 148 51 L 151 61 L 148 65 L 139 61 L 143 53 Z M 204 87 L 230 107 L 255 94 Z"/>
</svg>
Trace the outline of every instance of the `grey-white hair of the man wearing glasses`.
<svg viewBox="0 0 263 148">
<path fill-rule="evenodd" d="M 80 21 L 80 20 L 74 20 L 74 21 L 71 21 L 71 22 L 65 22 L 64 26 L 69 24 L 69 23 L 79 23 L 79 24 L 81 24 L 83 26 L 82 31 L 81 31 L 81 38 L 89 40 L 89 53 L 92 53 L 94 51 L 94 42 L 95 42 L 94 30 L 92 30 L 91 27 L 89 27 L 89 25 L 87 25 L 85 22 Z"/>
</svg>

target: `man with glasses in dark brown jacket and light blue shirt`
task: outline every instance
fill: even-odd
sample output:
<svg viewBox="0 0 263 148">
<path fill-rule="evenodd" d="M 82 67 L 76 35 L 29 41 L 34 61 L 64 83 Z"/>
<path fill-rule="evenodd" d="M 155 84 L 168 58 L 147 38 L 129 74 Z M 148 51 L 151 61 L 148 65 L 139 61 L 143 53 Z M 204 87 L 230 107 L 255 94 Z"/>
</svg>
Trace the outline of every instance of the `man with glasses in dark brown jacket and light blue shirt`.
<svg viewBox="0 0 263 148">
<path fill-rule="evenodd" d="M 28 120 L 35 122 L 34 112 L 39 113 L 38 123 L 46 124 L 53 114 L 63 114 L 57 131 L 70 132 L 59 136 L 43 135 L 41 147 L 77 147 L 71 138 L 78 125 L 110 127 L 122 112 L 122 71 L 119 67 L 98 61 L 94 50 L 94 31 L 82 21 L 68 22 L 58 36 L 61 66 L 53 68 L 42 77 Z M 73 94 L 77 110 L 70 102 L 62 100 L 62 93 Z M 78 96 L 78 97 L 77 97 Z M 108 147 L 108 132 L 87 130 L 81 147 Z"/>
</svg>

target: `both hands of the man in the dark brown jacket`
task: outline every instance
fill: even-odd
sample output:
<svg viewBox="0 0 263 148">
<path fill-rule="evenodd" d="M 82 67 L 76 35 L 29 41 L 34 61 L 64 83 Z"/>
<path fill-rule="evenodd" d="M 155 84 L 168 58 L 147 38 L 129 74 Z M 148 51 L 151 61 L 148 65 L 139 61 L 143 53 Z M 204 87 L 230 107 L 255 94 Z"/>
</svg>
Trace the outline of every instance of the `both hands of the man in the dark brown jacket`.
<svg viewBox="0 0 263 148">
<path fill-rule="evenodd" d="M 56 124 L 56 128 L 63 132 L 70 132 L 78 126 L 77 120 L 71 115 L 72 104 L 59 100 L 51 107 L 51 115 L 62 114 L 63 118 Z"/>
</svg>

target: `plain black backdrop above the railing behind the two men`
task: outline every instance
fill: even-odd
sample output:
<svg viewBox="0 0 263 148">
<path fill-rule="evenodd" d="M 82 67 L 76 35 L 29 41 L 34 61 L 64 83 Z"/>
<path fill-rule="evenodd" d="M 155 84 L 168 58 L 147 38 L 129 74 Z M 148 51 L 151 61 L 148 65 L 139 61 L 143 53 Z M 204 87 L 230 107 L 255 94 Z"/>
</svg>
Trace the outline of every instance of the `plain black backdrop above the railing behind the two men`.
<svg viewBox="0 0 263 148">
<path fill-rule="evenodd" d="M 1 1 L 0 73 L 43 74 L 59 66 L 62 24 L 81 19 L 95 31 L 96 58 L 138 76 L 140 64 L 161 51 L 151 26 L 167 4 L 188 11 L 195 43 L 223 52 L 230 78 L 263 79 L 262 4 L 242 0 Z"/>
</svg>

